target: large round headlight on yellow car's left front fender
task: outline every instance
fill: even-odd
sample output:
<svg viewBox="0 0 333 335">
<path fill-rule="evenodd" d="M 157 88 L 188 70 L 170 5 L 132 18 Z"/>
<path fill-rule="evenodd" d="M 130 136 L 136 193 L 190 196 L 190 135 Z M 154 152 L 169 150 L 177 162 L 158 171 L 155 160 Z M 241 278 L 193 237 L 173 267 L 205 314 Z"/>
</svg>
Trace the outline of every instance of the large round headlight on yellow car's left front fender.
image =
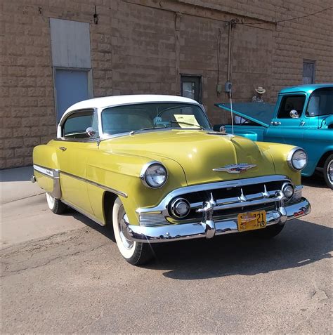
<svg viewBox="0 0 333 335">
<path fill-rule="evenodd" d="M 159 162 L 150 162 L 143 166 L 140 178 L 145 186 L 150 188 L 160 188 L 166 182 L 168 173 Z"/>
</svg>

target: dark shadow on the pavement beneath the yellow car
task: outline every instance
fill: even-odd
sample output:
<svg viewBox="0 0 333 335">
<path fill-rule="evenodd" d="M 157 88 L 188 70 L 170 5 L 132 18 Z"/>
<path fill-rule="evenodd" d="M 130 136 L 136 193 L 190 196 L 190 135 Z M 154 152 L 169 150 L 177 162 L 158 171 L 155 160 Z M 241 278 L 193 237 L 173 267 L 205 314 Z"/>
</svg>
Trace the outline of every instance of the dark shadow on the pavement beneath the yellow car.
<svg viewBox="0 0 333 335">
<path fill-rule="evenodd" d="M 114 240 L 112 229 L 102 227 L 74 210 L 67 215 Z M 329 254 L 332 251 L 332 228 L 294 220 L 273 239 L 256 239 L 255 235 L 243 232 L 151 246 L 155 260 L 143 268 L 164 270 L 163 275 L 171 279 L 256 275 L 298 268 L 332 257 Z"/>
</svg>

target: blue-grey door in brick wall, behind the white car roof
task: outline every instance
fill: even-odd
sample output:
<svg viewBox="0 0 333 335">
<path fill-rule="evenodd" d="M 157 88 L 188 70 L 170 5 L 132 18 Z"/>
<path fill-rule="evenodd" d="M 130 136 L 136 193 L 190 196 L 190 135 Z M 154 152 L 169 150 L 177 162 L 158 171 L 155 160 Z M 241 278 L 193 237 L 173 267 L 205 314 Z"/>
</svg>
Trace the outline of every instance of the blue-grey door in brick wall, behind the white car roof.
<svg viewBox="0 0 333 335">
<path fill-rule="evenodd" d="M 57 123 L 68 107 L 89 99 L 88 71 L 55 69 Z"/>
</svg>

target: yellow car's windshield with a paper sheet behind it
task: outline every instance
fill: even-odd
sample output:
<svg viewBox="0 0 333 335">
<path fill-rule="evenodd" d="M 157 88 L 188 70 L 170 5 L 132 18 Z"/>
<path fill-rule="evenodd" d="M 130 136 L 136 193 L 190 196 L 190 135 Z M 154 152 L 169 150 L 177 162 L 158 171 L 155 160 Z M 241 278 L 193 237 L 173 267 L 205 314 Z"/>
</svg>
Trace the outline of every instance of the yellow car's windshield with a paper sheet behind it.
<svg viewBox="0 0 333 335">
<path fill-rule="evenodd" d="M 103 133 L 114 135 L 155 128 L 211 129 L 206 114 L 197 105 L 142 103 L 105 108 Z"/>
</svg>

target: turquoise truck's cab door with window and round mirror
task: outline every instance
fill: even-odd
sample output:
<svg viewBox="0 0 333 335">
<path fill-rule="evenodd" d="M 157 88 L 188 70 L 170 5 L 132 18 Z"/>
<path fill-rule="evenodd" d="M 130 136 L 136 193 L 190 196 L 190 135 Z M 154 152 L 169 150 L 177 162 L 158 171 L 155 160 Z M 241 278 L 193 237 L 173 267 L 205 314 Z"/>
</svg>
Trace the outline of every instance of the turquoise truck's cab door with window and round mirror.
<svg viewBox="0 0 333 335">
<path fill-rule="evenodd" d="M 306 94 L 286 94 L 280 97 L 279 100 L 280 107 L 264 134 L 265 140 L 267 142 L 299 145 L 301 147 L 304 133 L 303 113 L 306 103 Z"/>
</svg>

